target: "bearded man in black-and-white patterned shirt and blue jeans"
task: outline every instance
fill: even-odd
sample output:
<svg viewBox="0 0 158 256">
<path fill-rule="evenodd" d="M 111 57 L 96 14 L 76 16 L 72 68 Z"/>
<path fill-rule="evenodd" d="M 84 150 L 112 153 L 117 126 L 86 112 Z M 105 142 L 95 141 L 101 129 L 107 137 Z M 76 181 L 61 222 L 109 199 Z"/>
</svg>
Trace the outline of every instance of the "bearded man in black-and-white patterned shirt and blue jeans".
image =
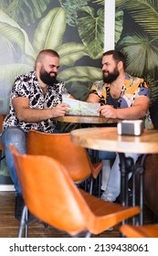
<svg viewBox="0 0 158 256">
<path fill-rule="evenodd" d="M 21 154 L 26 154 L 29 130 L 58 133 L 53 119 L 68 112 L 68 104 L 62 103 L 66 88 L 62 81 L 57 80 L 58 69 L 58 53 L 44 49 L 37 55 L 36 70 L 17 76 L 11 91 L 2 142 L 5 145 L 6 165 L 16 190 L 16 219 L 21 218 L 24 201 L 9 144 L 15 144 Z"/>
</svg>

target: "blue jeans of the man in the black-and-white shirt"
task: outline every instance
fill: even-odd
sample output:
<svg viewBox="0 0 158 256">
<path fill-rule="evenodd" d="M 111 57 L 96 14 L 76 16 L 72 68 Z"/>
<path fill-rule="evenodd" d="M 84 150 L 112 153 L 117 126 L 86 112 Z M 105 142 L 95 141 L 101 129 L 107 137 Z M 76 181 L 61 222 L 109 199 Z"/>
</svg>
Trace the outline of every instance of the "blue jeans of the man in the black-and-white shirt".
<svg viewBox="0 0 158 256">
<path fill-rule="evenodd" d="M 6 128 L 2 133 L 2 143 L 5 145 L 5 161 L 9 170 L 9 174 L 15 185 L 16 196 L 21 195 L 21 187 L 18 182 L 16 166 L 14 163 L 13 155 L 9 150 L 9 145 L 14 144 L 19 153 L 26 154 L 26 140 L 27 133 L 24 132 L 21 128 L 11 126 Z"/>
</svg>

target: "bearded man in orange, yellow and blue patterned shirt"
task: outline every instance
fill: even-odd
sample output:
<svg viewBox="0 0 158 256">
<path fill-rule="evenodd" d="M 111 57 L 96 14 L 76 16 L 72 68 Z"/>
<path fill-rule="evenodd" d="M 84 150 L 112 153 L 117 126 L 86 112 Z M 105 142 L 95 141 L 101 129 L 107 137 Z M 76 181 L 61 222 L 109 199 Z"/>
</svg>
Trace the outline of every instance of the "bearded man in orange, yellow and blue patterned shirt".
<svg viewBox="0 0 158 256">
<path fill-rule="evenodd" d="M 125 72 L 126 59 L 117 50 L 109 50 L 102 57 L 103 80 L 96 81 L 87 101 L 100 102 L 100 114 L 112 119 L 142 119 L 146 129 L 153 129 L 149 112 L 151 91 L 148 83 L 142 78 L 132 77 Z M 136 162 L 138 154 L 126 154 Z M 108 171 L 107 159 L 113 160 L 110 176 L 104 181 L 101 198 L 115 201 L 121 191 L 121 173 L 119 155 L 114 152 L 100 151 L 103 161 L 102 174 Z M 129 176 L 130 178 L 130 176 Z M 103 182 L 102 182 L 103 183 Z"/>
</svg>

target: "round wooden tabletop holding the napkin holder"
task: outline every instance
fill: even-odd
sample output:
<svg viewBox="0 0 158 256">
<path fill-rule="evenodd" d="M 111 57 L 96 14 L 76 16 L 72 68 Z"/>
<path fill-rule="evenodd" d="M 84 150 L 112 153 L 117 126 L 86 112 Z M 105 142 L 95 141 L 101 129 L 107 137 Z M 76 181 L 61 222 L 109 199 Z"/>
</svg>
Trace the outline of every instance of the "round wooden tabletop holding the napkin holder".
<svg viewBox="0 0 158 256">
<path fill-rule="evenodd" d="M 142 135 L 119 135 L 117 127 L 77 129 L 71 132 L 75 144 L 118 153 L 158 154 L 158 131 L 144 130 Z"/>
</svg>

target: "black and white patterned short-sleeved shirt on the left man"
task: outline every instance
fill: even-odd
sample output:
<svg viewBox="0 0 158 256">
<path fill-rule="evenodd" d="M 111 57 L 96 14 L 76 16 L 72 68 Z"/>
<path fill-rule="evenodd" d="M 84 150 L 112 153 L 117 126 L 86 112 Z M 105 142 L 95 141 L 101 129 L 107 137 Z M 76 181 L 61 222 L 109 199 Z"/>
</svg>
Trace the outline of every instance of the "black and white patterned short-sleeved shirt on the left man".
<svg viewBox="0 0 158 256">
<path fill-rule="evenodd" d="M 36 71 L 17 76 L 11 91 L 9 112 L 5 117 L 3 130 L 9 126 L 16 126 L 22 128 L 25 132 L 33 129 L 40 132 L 53 133 L 56 127 L 53 120 L 48 119 L 39 123 L 20 122 L 16 117 L 12 100 L 16 97 L 26 97 L 29 99 L 30 109 L 43 110 L 58 105 L 62 101 L 64 91 L 66 91 L 64 83 L 57 81 L 53 86 L 48 86 L 47 94 L 44 95 L 37 81 Z"/>
</svg>

